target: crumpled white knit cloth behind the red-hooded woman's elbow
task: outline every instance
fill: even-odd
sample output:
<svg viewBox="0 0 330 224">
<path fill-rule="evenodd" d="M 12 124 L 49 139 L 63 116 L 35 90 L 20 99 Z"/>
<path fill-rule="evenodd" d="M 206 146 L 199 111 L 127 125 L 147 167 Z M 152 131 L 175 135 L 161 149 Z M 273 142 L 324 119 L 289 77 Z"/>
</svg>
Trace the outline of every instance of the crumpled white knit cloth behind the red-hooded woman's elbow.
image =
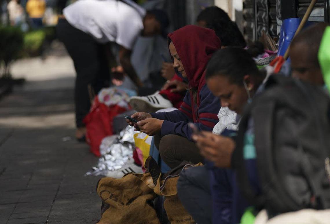
<svg viewBox="0 0 330 224">
<path fill-rule="evenodd" d="M 228 107 L 221 107 L 218 113 L 219 122 L 214 126 L 213 133 L 221 134 L 225 129 L 237 130 L 237 114 Z"/>
</svg>

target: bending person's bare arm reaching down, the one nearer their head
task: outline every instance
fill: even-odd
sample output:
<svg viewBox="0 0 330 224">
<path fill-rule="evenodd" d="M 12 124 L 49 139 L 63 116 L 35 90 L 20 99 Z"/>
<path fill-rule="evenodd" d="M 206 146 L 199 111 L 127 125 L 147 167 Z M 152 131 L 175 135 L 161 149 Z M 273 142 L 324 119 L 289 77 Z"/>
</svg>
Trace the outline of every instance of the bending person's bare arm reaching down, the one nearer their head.
<svg viewBox="0 0 330 224">
<path fill-rule="evenodd" d="M 136 74 L 135 69 L 131 63 L 131 55 L 132 51 L 120 46 L 119 61 L 121 66 L 123 67 L 128 77 L 135 83 L 135 85 L 137 85 L 138 87 L 142 87 L 143 83 L 141 82 L 139 76 Z"/>
</svg>

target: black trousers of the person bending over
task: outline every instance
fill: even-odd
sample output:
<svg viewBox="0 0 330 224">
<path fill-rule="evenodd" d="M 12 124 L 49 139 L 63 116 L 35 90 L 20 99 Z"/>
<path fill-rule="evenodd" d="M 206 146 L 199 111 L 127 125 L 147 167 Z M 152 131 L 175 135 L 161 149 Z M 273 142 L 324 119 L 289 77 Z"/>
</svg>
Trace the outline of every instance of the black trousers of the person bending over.
<svg viewBox="0 0 330 224">
<path fill-rule="evenodd" d="M 102 88 L 109 87 L 110 69 L 105 45 L 73 27 L 66 19 L 59 19 L 56 32 L 58 39 L 65 45 L 77 73 L 75 82 L 76 125 L 83 127 L 83 118 L 90 109 L 88 84 L 97 94 Z"/>
</svg>

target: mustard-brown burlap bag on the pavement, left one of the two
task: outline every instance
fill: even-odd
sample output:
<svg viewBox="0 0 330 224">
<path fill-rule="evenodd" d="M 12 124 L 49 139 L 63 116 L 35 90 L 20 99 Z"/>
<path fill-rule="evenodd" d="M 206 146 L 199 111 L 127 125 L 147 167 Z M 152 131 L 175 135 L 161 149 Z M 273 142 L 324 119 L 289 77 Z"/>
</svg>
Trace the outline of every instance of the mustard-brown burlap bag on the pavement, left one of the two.
<svg viewBox="0 0 330 224">
<path fill-rule="evenodd" d="M 102 199 L 99 224 L 148 223 L 159 224 L 151 206 L 156 198 L 150 173 L 129 173 L 123 178 L 102 178 L 97 193 Z"/>
</svg>

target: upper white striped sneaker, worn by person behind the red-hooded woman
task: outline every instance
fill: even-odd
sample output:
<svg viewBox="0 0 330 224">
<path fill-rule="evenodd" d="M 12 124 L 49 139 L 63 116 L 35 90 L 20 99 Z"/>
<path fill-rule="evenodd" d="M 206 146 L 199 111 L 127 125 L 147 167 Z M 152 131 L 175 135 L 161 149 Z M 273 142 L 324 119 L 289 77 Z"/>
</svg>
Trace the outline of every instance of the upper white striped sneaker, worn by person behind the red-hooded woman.
<svg viewBox="0 0 330 224">
<path fill-rule="evenodd" d="M 130 98 L 129 104 L 136 111 L 150 113 L 154 113 L 159 109 L 173 107 L 171 101 L 165 99 L 159 93 L 149 96 L 133 96 Z"/>
</svg>

